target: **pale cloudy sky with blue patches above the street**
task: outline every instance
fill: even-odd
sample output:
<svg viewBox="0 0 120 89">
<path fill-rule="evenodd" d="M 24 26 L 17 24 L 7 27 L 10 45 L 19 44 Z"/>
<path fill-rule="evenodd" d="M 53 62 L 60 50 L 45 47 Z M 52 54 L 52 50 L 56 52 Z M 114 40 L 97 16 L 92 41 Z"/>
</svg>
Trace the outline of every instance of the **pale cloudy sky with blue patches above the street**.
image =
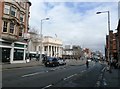
<svg viewBox="0 0 120 89">
<path fill-rule="evenodd" d="M 108 34 L 107 13 L 110 11 L 110 28 L 115 31 L 118 24 L 118 1 L 115 0 L 30 0 L 30 27 L 63 41 L 64 45 L 80 45 L 92 51 L 104 53 Z M 56 35 L 55 35 L 56 34 Z"/>
</svg>

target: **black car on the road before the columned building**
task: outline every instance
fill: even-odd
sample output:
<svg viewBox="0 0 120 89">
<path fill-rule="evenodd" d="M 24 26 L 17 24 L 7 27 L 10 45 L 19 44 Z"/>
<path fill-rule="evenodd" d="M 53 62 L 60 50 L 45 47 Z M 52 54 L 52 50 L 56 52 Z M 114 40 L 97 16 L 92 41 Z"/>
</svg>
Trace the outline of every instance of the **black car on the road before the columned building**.
<svg viewBox="0 0 120 89">
<path fill-rule="evenodd" d="M 48 66 L 58 66 L 59 62 L 57 58 L 47 57 L 46 61 L 44 61 L 44 65 Z"/>
</svg>

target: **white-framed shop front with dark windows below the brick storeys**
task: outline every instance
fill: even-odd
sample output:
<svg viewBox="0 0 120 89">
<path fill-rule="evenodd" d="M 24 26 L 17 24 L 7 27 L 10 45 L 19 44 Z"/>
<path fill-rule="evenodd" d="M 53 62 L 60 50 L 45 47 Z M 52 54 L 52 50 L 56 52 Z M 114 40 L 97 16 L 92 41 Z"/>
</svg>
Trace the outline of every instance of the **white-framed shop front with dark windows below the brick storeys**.
<svg viewBox="0 0 120 89">
<path fill-rule="evenodd" d="M 0 44 L 2 63 L 26 63 L 25 56 L 27 43 L 7 42 L 2 40 Z"/>
</svg>

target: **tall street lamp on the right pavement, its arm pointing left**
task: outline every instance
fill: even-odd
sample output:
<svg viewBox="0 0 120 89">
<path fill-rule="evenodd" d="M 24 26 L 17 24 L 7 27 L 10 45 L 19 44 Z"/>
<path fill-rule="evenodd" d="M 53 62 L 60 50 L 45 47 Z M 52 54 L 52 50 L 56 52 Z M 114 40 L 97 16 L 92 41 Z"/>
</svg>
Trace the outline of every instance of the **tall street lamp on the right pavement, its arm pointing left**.
<svg viewBox="0 0 120 89">
<path fill-rule="evenodd" d="M 108 14 L 108 60 L 109 62 L 111 61 L 110 59 L 110 12 L 109 11 L 103 11 L 103 12 L 97 12 L 96 14 L 101 14 L 101 13 L 107 13 Z"/>
</svg>

